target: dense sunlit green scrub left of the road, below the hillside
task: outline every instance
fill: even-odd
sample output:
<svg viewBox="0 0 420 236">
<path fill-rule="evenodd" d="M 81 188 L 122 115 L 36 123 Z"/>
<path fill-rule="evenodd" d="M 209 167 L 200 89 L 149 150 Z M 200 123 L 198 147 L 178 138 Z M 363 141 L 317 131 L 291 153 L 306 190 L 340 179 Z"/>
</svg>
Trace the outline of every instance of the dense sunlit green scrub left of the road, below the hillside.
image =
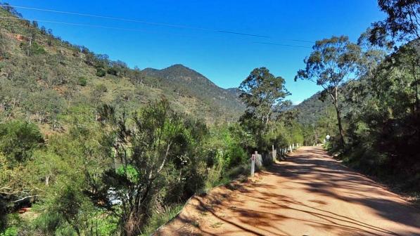
<svg viewBox="0 0 420 236">
<path fill-rule="evenodd" d="M 265 140 L 240 124 L 208 128 L 172 110 L 167 100 L 129 113 L 103 105 L 96 119 L 79 120 L 67 133 L 48 137 L 33 123 L 1 124 L 4 233 L 150 232 L 149 225 L 157 227 L 160 217 L 173 214 L 194 193 L 248 174 L 248 150 L 258 150 L 257 143 L 266 142 L 269 150 L 302 140 L 300 130 L 284 122 Z M 13 213 L 30 205 L 23 216 Z"/>
</svg>

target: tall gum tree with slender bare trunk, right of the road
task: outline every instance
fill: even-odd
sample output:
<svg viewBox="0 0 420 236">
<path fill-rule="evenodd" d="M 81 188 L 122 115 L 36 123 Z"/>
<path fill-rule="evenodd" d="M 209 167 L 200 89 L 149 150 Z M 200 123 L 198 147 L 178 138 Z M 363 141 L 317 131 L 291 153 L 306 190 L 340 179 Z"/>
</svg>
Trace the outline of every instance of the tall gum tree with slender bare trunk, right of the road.
<svg viewBox="0 0 420 236">
<path fill-rule="evenodd" d="M 305 69 L 298 71 L 295 81 L 298 79 L 314 81 L 322 86 L 323 93 L 331 97 L 336 108 L 341 145 L 344 145 L 339 88 L 348 83 L 350 77 L 355 76 L 361 49 L 357 44 L 352 44 L 346 36 L 316 41 L 312 49 L 310 56 L 304 60 Z"/>
</svg>

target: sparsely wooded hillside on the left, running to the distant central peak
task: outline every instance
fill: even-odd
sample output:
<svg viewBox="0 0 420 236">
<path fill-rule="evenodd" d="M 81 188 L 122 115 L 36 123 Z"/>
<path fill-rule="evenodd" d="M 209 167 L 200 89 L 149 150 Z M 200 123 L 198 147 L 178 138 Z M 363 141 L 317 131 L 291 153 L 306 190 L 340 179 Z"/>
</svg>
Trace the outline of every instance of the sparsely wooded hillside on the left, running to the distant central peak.
<svg viewBox="0 0 420 236">
<path fill-rule="evenodd" d="M 132 110 L 160 96 L 176 110 L 209 123 L 234 121 L 244 110 L 238 98 L 181 65 L 158 74 L 130 69 L 108 55 L 63 41 L 51 29 L 39 29 L 37 22 L 16 18 L 3 8 L 0 16 L 7 18 L 0 21 L 3 118 L 28 118 L 47 130 L 59 131 L 76 115 L 75 110 L 91 112 L 101 103 Z"/>
</svg>

